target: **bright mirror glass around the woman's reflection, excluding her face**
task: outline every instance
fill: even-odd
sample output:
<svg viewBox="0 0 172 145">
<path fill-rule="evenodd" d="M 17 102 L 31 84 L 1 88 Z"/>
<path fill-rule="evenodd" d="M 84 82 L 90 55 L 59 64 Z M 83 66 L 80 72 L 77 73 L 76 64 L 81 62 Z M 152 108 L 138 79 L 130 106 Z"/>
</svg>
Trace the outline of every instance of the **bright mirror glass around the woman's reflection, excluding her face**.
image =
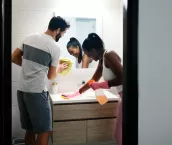
<svg viewBox="0 0 172 145">
<path fill-rule="evenodd" d="M 56 16 L 56 15 L 55 15 Z M 63 36 L 63 39 L 60 39 L 58 45 L 61 48 L 61 56 L 69 58 L 73 62 L 72 69 L 82 68 L 82 61 L 78 63 L 78 59 L 67 50 L 67 43 L 70 41 L 71 37 L 76 38 L 82 46 L 83 41 L 87 38 L 89 33 L 97 33 L 102 37 L 102 19 L 101 17 L 66 17 L 66 19 L 71 27 L 68 32 Z M 88 63 L 87 68 L 97 67 L 98 62 L 91 60 Z"/>
</svg>

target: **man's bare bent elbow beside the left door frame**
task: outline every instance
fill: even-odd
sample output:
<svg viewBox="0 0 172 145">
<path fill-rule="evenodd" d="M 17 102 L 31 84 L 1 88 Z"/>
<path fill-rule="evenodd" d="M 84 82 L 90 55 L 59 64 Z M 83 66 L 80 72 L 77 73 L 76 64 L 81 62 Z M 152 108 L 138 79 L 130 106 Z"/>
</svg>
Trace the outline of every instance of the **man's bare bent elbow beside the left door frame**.
<svg viewBox="0 0 172 145">
<path fill-rule="evenodd" d="M 22 57 L 23 57 L 23 51 L 19 48 L 16 48 L 12 54 L 12 62 L 18 66 L 21 66 L 22 65 Z"/>
</svg>

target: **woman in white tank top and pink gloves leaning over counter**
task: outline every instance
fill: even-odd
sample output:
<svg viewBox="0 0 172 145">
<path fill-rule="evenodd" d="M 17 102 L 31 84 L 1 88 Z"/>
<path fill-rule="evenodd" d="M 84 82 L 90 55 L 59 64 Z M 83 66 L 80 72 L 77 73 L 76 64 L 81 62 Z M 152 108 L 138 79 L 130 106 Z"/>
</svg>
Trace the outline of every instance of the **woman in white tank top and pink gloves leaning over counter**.
<svg viewBox="0 0 172 145">
<path fill-rule="evenodd" d="M 107 52 L 104 48 L 102 39 L 95 33 L 91 33 L 84 40 L 82 45 L 84 54 L 95 61 L 99 61 L 96 72 L 91 80 L 96 81 L 89 85 L 86 83 L 77 92 L 70 95 L 64 95 L 67 98 L 73 98 L 88 90 L 90 87 L 96 89 L 117 88 L 117 91 L 122 99 L 122 72 L 121 59 L 115 51 Z M 103 76 L 104 82 L 98 82 Z M 117 123 L 115 127 L 115 138 L 117 145 L 122 145 L 122 101 L 119 104 Z"/>
</svg>

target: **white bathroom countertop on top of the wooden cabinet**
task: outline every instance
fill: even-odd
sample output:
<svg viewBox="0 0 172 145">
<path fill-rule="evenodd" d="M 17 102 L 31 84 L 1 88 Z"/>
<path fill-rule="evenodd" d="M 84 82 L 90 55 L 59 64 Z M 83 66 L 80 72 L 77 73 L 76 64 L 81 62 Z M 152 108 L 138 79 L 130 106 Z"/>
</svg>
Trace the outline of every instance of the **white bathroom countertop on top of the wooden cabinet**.
<svg viewBox="0 0 172 145">
<path fill-rule="evenodd" d="M 72 92 L 70 92 L 72 93 Z M 67 93 L 67 94 L 70 94 Z M 110 93 L 107 90 L 104 90 L 105 95 L 108 98 L 108 101 L 118 101 L 119 96 Z M 87 91 L 80 96 L 71 99 L 63 99 L 61 93 L 59 94 L 50 94 L 53 104 L 69 104 L 69 103 L 84 103 L 84 102 L 97 102 L 94 91 Z"/>
</svg>

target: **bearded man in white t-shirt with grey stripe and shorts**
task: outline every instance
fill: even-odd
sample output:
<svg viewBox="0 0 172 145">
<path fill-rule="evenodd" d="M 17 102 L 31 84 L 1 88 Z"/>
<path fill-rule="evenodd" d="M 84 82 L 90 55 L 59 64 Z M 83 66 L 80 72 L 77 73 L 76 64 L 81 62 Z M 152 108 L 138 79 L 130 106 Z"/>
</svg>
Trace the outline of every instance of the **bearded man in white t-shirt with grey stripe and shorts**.
<svg viewBox="0 0 172 145">
<path fill-rule="evenodd" d="M 27 145 L 48 145 L 52 110 L 46 82 L 68 67 L 59 64 L 60 48 L 56 42 L 69 27 L 63 18 L 53 17 L 45 33 L 27 36 L 12 54 L 12 62 L 22 67 L 17 99 Z"/>
</svg>

